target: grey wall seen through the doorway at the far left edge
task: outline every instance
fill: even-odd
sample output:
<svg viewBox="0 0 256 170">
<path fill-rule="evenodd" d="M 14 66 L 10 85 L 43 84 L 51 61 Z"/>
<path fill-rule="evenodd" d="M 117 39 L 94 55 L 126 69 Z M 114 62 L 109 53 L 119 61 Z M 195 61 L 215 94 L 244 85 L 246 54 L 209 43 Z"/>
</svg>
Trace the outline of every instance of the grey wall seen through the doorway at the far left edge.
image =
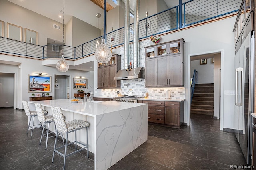
<svg viewBox="0 0 256 170">
<path fill-rule="evenodd" d="M 0 107 L 12 106 L 14 107 L 14 74 L 0 72 Z"/>
</svg>

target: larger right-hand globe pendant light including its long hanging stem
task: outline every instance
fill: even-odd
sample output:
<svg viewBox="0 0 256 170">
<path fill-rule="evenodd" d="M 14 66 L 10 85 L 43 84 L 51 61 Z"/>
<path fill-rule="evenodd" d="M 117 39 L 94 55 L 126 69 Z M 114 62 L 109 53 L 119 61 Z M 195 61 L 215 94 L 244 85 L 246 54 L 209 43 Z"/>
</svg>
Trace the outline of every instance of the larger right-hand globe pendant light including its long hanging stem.
<svg viewBox="0 0 256 170">
<path fill-rule="evenodd" d="M 104 31 L 101 44 L 95 50 L 95 58 L 99 63 L 108 63 L 112 57 L 112 53 L 105 43 L 106 38 L 106 0 L 104 0 Z"/>
</svg>

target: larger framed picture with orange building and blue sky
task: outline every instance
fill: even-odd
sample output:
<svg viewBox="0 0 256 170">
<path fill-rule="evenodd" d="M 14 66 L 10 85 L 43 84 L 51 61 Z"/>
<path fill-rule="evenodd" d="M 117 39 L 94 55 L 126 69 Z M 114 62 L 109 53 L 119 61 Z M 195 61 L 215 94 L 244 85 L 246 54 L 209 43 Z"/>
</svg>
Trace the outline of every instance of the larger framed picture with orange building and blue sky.
<svg viewBox="0 0 256 170">
<path fill-rule="evenodd" d="M 28 75 L 28 93 L 51 92 L 51 76 Z"/>
</svg>

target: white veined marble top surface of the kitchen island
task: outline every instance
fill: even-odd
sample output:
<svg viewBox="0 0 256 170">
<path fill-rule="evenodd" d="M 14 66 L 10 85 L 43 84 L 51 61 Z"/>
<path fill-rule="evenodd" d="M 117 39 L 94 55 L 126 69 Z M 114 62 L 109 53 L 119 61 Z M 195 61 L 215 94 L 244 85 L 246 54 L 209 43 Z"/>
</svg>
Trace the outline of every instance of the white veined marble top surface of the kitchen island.
<svg viewBox="0 0 256 170">
<path fill-rule="evenodd" d="M 58 99 L 58 100 L 44 100 L 44 101 L 29 101 L 29 103 L 41 103 L 46 107 L 60 107 L 64 111 L 70 111 L 74 113 L 80 113 L 83 115 L 93 116 L 101 115 L 105 113 L 111 113 L 114 111 L 120 111 L 132 107 L 141 105 L 147 105 L 142 103 L 126 103 L 116 101 L 87 101 L 83 102 L 82 99 L 78 103 L 71 103 L 71 99 Z"/>
</svg>

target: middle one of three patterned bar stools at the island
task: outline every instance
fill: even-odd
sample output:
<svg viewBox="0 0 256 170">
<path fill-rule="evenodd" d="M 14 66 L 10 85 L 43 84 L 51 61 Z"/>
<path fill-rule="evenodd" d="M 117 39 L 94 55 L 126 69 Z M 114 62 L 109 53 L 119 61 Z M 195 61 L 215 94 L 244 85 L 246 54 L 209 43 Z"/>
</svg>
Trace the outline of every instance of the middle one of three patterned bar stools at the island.
<svg viewBox="0 0 256 170">
<path fill-rule="evenodd" d="M 41 134 L 41 138 L 40 138 L 40 142 L 39 144 L 41 144 L 42 142 L 42 137 L 46 137 L 46 144 L 45 144 L 45 149 L 47 149 L 47 142 L 48 142 L 48 138 L 52 138 L 54 136 L 51 136 L 49 137 L 49 134 L 52 134 L 52 133 L 55 133 L 55 132 L 50 132 L 49 133 L 49 126 L 50 126 L 50 123 L 53 122 L 54 123 L 54 118 L 53 118 L 53 115 L 44 115 L 44 110 L 42 108 L 42 105 L 40 103 L 35 103 L 35 106 L 36 106 L 36 112 L 37 112 L 37 116 L 38 116 L 38 120 L 41 122 L 41 123 L 44 123 L 44 127 L 43 127 L 43 130 L 42 130 L 42 134 Z M 47 133 L 44 134 L 44 128 L 46 128 L 46 123 L 48 123 L 48 128 L 47 128 Z M 54 123 L 54 126 L 55 126 L 55 130 L 57 129 L 56 128 L 56 125 Z M 60 133 L 58 133 L 60 134 Z M 56 133 L 56 138 L 58 138 L 58 134 Z M 62 136 L 62 141 L 64 143 L 64 138 L 63 138 L 63 135 L 61 133 L 61 136 Z"/>
</svg>

